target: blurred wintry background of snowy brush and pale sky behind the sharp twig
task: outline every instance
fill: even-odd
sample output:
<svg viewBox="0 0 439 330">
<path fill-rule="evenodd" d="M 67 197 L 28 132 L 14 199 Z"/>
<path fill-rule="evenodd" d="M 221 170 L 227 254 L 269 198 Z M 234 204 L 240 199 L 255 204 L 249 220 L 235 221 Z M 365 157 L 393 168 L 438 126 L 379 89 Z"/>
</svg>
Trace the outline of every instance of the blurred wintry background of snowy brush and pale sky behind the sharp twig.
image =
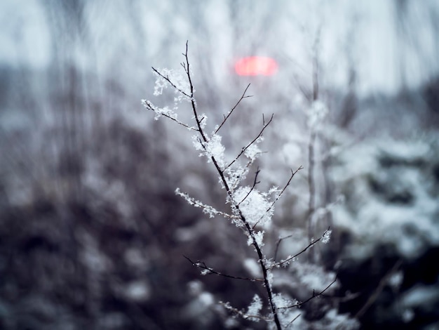
<svg viewBox="0 0 439 330">
<path fill-rule="evenodd" d="M 6 0 L 0 21 L 1 329 L 224 329 L 216 302 L 246 308 L 260 290 L 183 257 L 237 276 L 255 257 L 175 196 L 227 210 L 191 133 L 140 103 L 173 105 L 151 67 L 181 70 L 187 41 L 208 131 L 251 84 L 220 131 L 230 159 L 274 114 L 261 189 L 304 166 L 267 255 L 330 226 L 314 262 L 337 274 L 340 313 L 439 329 L 438 1 Z M 239 75 L 247 56 L 276 72 Z M 229 322 L 245 326 L 264 329 Z"/>
</svg>

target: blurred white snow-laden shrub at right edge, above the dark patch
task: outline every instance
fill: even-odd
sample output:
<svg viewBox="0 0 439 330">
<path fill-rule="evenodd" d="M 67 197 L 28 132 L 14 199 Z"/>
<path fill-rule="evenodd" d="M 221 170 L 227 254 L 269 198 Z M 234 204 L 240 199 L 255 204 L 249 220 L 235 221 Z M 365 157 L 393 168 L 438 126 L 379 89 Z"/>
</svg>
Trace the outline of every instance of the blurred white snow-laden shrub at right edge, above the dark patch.
<svg viewBox="0 0 439 330">
<path fill-rule="evenodd" d="M 384 139 L 342 153 L 334 173 L 346 203 L 335 219 L 358 242 L 349 258 L 387 244 L 412 259 L 439 244 L 438 150 L 428 138 Z"/>
</svg>

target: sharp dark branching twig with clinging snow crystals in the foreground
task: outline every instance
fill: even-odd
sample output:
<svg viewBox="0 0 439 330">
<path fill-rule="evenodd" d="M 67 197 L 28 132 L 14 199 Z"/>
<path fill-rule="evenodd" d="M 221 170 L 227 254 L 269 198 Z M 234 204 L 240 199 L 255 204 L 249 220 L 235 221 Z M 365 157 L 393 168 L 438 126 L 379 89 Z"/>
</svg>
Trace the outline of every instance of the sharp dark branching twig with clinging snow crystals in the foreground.
<svg viewBox="0 0 439 330">
<path fill-rule="evenodd" d="M 180 124 L 181 126 L 184 126 L 185 128 L 195 132 L 193 136 L 194 147 L 198 152 L 200 152 L 200 157 L 205 157 L 208 164 L 212 164 L 212 166 L 215 167 L 219 184 L 225 192 L 224 200 L 226 204 L 229 205 L 230 211 L 229 213 L 218 211 L 214 206 L 204 204 L 203 202 L 190 197 L 189 194 L 182 192 L 179 188 L 177 188 L 175 192 L 183 197 L 192 206 L 203 209 L 203 211 L 207 213 L 210 218 L 222 216 L 231 220 L 231 223 L 236 225 L 236 227 L 238 227 L 247 236 L 248 245 L 252 246 L 255 250 L 255 259 L 257 260 L 259 271 L 253 272 L 255 275 L 257 275 L 253 278 L 237 277 L 234 275 L 227 275 L 222 272 L 217 272 L 201 261 L 195 262 L 190 258 L 187 259 L 194 266 L 201 268 L 201 275 L 215 274 L 232 279 L 247 279 L 261 283 L 266 293 L 266 297 L 261 298 L 255 294 L 247 310 L 238 310 L 232 307 L 230 303 L 221 304 L 225 309 L 229 310 L 235 316 L 238 315 L 244 319 L 255 322 L 264 320 L 267 322 L 270 329 L 288 329 L 290 328 L 292 322 L 299 317 L 299 313 L 290 311 L 292 311 L 292 309 L 297 309 L 306 301 L 299 303 L 289 296 L 283 296 L 283 294 L 280 292 L 274 292 L 273 270 L 281 268 L 281 266 L 285 267 L 289 265 L 297 256 L 299 256 L 299 254 L 304 253 L 318 242 L 327 242 L 330 238 L 330 230 L 328 229 L 325 231 L 323 235 L 317 239 L 313 239 L 313 241 L 309 242 L 309 245 L 306 246 L 305 249 L 295 254 L 295 256 L 288 256 L 288 258 L 276 262 L 273 258 L 269 258 L 266 256 L 266 254 L 264 254 L 264 233 L 271 227 L 274 206 L 278 199 L 281 198 L 286 188 L 290 185 L 295 174 L 302 169 L 302 166 L 295 171 L 291 171 L 290 177 L 283 188 L 272 187 L 267 192 L 259 191 L 257 189 L 257 184 L 259 183 L 259 169 L 255 172 L 252 185 L 244 185 L 243 180 L 245 180 L 245 178 L 248 176 L 250 167 L 255 162 L 257 157 L 262 153 L 259 150 L 258 145 L 262 142 L 264 130 L 273 120 L 273 116 L 269 117 L 269 119 L 262 117 L 262 128 L 259 129 L 259 133 L 256 134 L 255 138 L 243 145 L 241 152 L 238 152 L 236 157 L 227 159 L 225 154 L 226 150 L 222 144 L 222 136 L 220 136 L 218 132 L 224 123 L 230 118 L 232 112 L 234 112 L 239 103 L 241 103 L 244 98 L 248 98 L 248 95 L 246 95 L 248 87 L 245 88 L 245 91 L 238 100 L 238 103 L 236 103 L 236 105 L 224 115 L 223 121 L 215 126 L 215 129 L 212 131 L 212 133 L 208 133 L 206 130 L 206 122 L 208 117 L 205 114 L 200 114 L 200 112 L 198 112 L 196 99 L 194 98 L 194 86 L 191 79 L 187 44 L 186 52 L 183 55 L 184 62 L 182 62 L 181 65 L 186 77 L 185 81 L 182 79 L 181 75 L 176 74 L 176 72 L 172 70 L 156 70 L 153 68 L 154 73 L 158 77 L 154 93 L 160 94 L 161 91 L 163 91 L 163 88 L 173 88 L 177 95 L 175 97 L 175 105 L 173 109 L 170 110 L 168 107 L 156 107 L 156 105 L 152 104 L 149 100 L 142 100 L 142 104 L 147 108 L 147 110 L 151 110 L 156 114 L 156 119 L 162 116 L 167 117 L 168 119 L 177 122 L 177 124 Z M 191 111 L 193 112 L 192 119 L 194 120 L 194 124 L 187 124 L 177 119 L 177 113 L 175 112 L 177 110 L 177 103 L 181 102 L 182 100 L 186 100 L 190 103 Z M 318 293 L 313 293 L 313 296 L 307 301 L 321 296 L 323 292 L 327 291 L 329 286 L 334 283 L 335 280 Z M 264 304 L 268 305 L 269 307 L 268 313 L 263 312 L 262 307 Z"/>
</svg>

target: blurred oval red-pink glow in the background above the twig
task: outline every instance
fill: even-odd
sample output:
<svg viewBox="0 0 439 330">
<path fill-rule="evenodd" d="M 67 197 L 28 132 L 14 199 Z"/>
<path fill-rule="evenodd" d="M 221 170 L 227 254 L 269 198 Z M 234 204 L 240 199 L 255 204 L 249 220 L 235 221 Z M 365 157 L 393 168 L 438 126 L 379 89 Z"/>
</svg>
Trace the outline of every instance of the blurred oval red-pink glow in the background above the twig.
<svg viewBox="0 0 439 330">
<path fill-rule="evenodd" d="M 235 72 L 240 76 L 271 76 L 278 70 L 278 63 L 273 58 L 249 56 L 235 63 Z"/>
</svg>

